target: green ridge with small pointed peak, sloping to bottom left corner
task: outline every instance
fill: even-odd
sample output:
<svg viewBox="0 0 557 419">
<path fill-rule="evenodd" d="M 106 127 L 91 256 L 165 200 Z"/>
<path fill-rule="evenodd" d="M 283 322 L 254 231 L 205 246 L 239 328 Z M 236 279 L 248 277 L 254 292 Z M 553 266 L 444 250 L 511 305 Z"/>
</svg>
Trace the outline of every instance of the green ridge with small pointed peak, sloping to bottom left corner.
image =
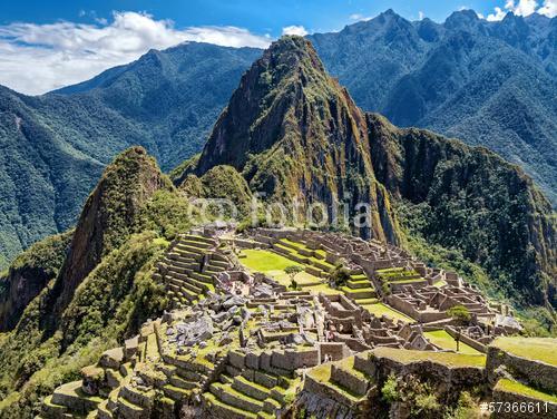
<svg viewBox="0 0 557 419">
<path fill-rule="evenodd" d="M 106 168 L 76 230 L 22 254 L 6 294 L 1 277 L 9 322 L 0 339 L 1 418 L 35 417 L 40 396 L 162 314 L 167 300 L 155 264 L 192 223 L 188 202 L 144 148 Z"/>
</svg>

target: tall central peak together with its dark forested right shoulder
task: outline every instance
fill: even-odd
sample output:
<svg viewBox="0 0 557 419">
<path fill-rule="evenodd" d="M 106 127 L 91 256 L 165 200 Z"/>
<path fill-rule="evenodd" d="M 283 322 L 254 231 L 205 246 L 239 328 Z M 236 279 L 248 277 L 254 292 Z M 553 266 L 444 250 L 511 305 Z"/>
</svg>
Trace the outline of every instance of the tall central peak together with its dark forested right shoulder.
<svg viewBox="0 0 557 419">
<path fill-rule="evenodd" d="M 303 38 L 273 43 L 242 77 L 195 168 L 177 179 L 187 189 L 222 165 L 270 202 L 322 203 L 331 216 L 348 196 L 352 217 L 367 203 L 371 226 L 352 232 L 390 243 L 404 236 L 409 208 L 419 220 L 410 235 L 461 252 L 518 303 L 557 305 L 553 210 L 532 181 L 483 147 L 362 111 Z"/>
</svg>

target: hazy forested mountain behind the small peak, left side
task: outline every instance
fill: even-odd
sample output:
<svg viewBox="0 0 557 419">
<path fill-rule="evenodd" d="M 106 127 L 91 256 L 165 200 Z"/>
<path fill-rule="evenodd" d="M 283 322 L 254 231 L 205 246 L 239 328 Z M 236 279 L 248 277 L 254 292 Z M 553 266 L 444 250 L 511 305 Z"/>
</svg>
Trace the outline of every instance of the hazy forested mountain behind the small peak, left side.
<svg viewBox="0 0 557 419">
<path fill-rule="evenodd" d="M 185 43 L 57 94 L 0 88 L 0 267 L 72 226 L 105 165 L 123 149 L 143 145 L 164 169 L 198 152 L 260 53 Z"/>
</svg>

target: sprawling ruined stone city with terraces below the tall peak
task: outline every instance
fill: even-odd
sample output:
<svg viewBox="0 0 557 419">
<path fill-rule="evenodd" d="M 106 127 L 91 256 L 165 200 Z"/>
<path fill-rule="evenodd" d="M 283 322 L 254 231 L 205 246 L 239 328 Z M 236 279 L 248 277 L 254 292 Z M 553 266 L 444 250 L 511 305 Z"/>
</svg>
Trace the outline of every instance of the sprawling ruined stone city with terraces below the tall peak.
<svg viewBox="0 0 557 419">
<path fill-rule="evenodd" d="M 315 280 L 289 290 L 245 269 L 242 249 L 280 254 Z M 334 289 L 329 277 L 341 264 L 348 279 Z M 427 267 L 400 249 L 310 231 L 185 234 L 170 244 L 155 277 L 170 296 L 168 311 L 85 368 L 80 381 L 46 398 L 41 418 L 170 419 L 194 412 L 260 419 L 304 406 L 317 418 L 350 419 L 369 409 L 392 371 L 428 371 L 449 398 L 455 389 L 482 382 L 486 369 L 447 367 L 442 357 L 456 354 L 426 332 L 458 333 L 483 360 L 496 328 L 489 334 L 480 320 L 502 315 L 455 273 Z M 374 314 L 378 304 L 400 318 Z M 451 325 L 447 310 L 455 305 L 466 306 L 476 324 Z M 401 353 L 416 359 L 401 361 Z M 441 358 L 436 363 L 420 353 Z"/>
</svg>

